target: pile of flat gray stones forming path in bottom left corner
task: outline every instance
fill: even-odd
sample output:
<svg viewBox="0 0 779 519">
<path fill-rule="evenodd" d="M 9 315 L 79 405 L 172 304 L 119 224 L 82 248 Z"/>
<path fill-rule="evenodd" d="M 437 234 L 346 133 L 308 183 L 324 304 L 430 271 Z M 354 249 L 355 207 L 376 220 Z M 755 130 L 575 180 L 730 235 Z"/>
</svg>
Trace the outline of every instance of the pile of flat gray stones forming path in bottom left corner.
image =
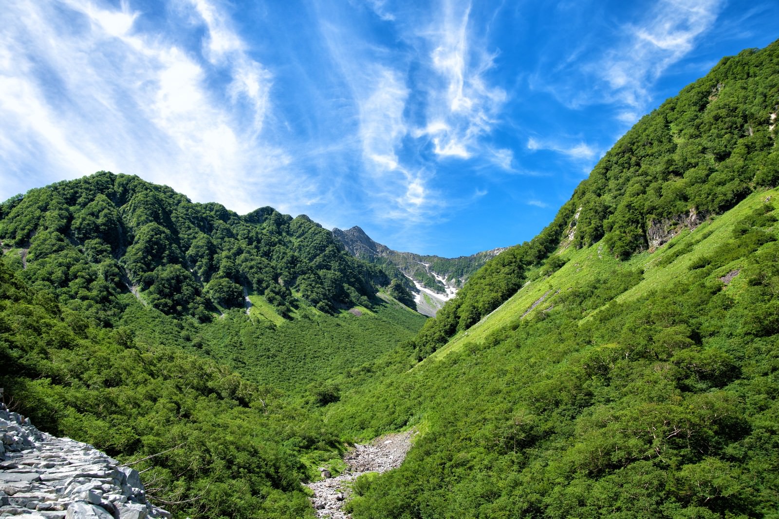
<svg viewBox="0 0 779 519">
<path fill-rule="evenodd" d="M 146 501 L 138 472 L 91 445 L 42 433 L 0 404 L 0 517 L 170 517 Z"/>
</svg>

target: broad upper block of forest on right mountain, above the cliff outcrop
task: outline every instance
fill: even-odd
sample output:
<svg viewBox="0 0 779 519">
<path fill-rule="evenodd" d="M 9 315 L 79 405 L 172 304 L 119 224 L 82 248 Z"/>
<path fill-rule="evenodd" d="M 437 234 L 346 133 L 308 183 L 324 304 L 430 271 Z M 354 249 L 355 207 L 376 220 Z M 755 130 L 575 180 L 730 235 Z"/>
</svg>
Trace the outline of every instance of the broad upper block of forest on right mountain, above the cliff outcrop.
<svg viewBox="0 0 779 519">
<path fill-rule="evenodd" d="M 647 225 L 695 208 L 717 214 L 779 171 L 770 113 L 779 104 L 779 43 L 725 58 L 643 117 L 573 194 L 575 243 L 604 236 L 625 259 L 647 248 Z"/>
</svg>

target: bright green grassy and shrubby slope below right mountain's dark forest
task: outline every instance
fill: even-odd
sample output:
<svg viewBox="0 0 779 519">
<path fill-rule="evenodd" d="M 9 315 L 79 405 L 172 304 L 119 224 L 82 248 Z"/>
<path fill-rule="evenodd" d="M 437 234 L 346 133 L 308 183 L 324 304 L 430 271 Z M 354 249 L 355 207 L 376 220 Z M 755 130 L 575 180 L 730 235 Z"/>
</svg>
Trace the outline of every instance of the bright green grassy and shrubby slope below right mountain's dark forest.
<svg viewBox="0 0 779 519">
<path fill-rule="evenodd" d="M 342 395 L 330 423 L 425 431 L 354 517 L 770 515 L 777 196 L 627 263 L 569 250 L 421 364 Z"/>
</svg>

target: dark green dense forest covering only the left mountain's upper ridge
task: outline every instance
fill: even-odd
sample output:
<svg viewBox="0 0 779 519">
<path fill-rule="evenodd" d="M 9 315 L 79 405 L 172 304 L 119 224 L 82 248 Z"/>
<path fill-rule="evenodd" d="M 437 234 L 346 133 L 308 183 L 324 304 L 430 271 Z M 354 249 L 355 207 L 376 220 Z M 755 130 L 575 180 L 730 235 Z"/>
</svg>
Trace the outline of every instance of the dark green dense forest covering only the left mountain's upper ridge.
<svg viewBox="0 0 779 519">
<path fill-rule="evenodd" d="M 239 216 L 109 172 L 6 200 L 0 239 L 21 252 L 26 280 L 85 312 L 132 289 L 162 312 L 202 321 L 217 309 L 242 307 L 245 291 L 284 317 L 298 301 L 332 313 L 369 306 L 390 284 L 305 215 L 263 207 Z"/>
</svg>

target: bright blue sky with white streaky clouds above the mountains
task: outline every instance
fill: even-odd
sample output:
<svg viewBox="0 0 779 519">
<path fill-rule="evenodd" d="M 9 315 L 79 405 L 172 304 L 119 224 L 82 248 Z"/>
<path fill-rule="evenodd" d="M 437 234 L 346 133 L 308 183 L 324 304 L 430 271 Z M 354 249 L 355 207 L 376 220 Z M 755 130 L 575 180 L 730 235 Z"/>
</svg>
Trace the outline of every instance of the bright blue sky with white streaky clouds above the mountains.
<svg viewBox="0 0 779 519">
<path fill-rule="evenodd" d="M 393 249 L 531 239 L 779 2 L 9 0 L 0 199 L 100 169 Z"/>
</svg>

